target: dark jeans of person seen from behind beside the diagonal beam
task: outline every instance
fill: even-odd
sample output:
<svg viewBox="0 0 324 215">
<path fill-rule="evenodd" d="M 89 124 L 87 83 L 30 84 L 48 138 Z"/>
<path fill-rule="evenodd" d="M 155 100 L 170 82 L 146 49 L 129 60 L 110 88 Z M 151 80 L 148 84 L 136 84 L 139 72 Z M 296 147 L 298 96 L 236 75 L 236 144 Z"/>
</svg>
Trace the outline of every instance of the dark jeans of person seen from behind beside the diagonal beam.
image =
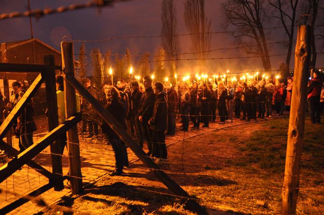
<svg viewBox="0 0 324 215">
<path fill-rule="evenodd" d="M 113 147 L 115 155 L 115 170 L 123 171 L 123 167 L 128 165 L 128 155 L 125 143 L 119 137 L 108 137 L 109 143 Z"/>
</svg>

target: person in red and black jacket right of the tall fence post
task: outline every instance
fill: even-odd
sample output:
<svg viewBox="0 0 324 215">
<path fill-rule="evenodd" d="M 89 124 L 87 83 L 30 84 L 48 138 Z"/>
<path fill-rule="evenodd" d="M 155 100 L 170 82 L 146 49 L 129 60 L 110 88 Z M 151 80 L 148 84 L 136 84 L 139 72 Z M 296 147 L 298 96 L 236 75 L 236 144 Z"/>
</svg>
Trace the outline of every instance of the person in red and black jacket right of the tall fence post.
<svg viewBox="0 0 324 215">
<path fill-rule="evenodd" d="M 320 99 L 323 82 L 320 78 L 321 73 L 315 71 L 313 79 L 307 88 L 307 102 L 310 110 L 310 120 L 312 123 L 321 123 Z"/>
</svg>

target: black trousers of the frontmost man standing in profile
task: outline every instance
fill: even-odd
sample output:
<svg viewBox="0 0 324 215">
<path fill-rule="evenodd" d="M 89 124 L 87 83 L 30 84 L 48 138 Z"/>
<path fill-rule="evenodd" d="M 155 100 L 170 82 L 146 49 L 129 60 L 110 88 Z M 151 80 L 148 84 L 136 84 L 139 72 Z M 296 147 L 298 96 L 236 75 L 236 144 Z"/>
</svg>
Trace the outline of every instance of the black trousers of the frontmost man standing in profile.
<svg viewBox="0 0 324 215">
<path fill-rule="evenodd" d="M 152 130 L 152 156 L 162 159 L 168 157 L 164 131 Z"/>
</svg>

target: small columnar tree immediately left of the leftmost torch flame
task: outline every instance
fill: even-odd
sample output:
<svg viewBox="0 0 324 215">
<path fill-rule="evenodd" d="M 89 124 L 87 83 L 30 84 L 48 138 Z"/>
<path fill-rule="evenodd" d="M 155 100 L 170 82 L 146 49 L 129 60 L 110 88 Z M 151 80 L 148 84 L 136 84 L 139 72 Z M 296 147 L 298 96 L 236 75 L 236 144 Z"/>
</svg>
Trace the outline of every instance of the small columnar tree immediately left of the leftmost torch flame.
<svg viewBox="0 0 324 215">
<path fill-rule="evenodd" d="M 93 49 L 91 51 L 90 56 L 91 56 L 91 63 L 93 66 L 92 69 L 93 84 L 97 92 L 100 93 L 100 90 L 104 83 L 105 59 L 100 53 L 99 49 Z"/>
</svg>

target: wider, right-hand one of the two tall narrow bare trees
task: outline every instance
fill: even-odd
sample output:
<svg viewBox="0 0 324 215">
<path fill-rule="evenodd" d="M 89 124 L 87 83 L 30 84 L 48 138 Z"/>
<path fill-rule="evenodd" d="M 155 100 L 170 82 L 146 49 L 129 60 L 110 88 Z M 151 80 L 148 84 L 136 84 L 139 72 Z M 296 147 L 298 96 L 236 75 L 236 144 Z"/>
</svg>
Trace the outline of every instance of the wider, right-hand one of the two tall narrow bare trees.
<svg viewBox="0 0 324 215">
<path fill-rule="evenodd" d="M 191 34 L 193 52 L 204 70 L 210 50 L 210 19 L 206 18 L 205 0 L 186 0 L 184 19 Z"/>
</svg>

